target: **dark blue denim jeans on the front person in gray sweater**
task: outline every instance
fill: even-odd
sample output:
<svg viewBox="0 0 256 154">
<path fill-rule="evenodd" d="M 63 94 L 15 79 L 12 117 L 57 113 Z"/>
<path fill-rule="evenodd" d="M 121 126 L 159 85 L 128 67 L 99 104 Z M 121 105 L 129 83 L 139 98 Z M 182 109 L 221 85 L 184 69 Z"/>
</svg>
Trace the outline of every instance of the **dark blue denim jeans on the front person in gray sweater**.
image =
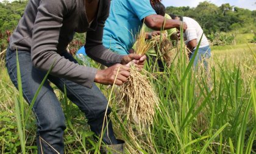
<svg viewBox="0 0 256 154">
<path fill-rule="evenodd" d="M 76 60 L 67 52 L 62 56 L 76 63 Z M 18 58 L 20 61 L 23 96 L 30 104 L 46 72 L 40 71 L 32 65 L 30 52 L 18 51 Z M 10 79 L 17 88 L 16 52 L 9 48 L 7 49 L 6 55 L 6 67 Z M 91 130 L 94 131 L 96 135 L 100 135 L 105 110 L 107 108 L 107 99 L 99 88 L 95 84 L 93 84 L 92 88 L 86 88 L 69 80 L 49 75 L 33 107 L 37 118 L 38 153 L 42 153 L 41 149 L 43 149 L 43 153 L 56 153 L 55 150 L 59 153 L 64 153 L 63 131 L 66 128 L 65 116 L 60 102 L 50 86 L 50 82 L 54 83 L 61 91 L 64 91 L 65 85 L 68 99 L 85 113 Z M 111 109 L 108 108 L 107 114 L 109 114 L 110 111 Z M 106 120 L 108 121 L 108 126 L 106 123 L 104 124 L 106 131 L 102 141 L 104 141 L 105 144 L 118 144 L 113 133 L 112 123 L 109 119 Z M 40 142 L 39 137 L 50 144 L 55 150 L 46 144 L 46 142 L 42 140 Z"/>
</svg>

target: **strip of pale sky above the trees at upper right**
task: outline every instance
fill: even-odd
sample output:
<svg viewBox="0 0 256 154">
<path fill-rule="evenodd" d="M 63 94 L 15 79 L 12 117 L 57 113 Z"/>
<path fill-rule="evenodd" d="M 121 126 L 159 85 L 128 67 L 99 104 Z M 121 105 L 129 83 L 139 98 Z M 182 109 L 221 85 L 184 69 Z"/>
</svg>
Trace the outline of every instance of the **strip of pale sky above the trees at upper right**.
<svg viewBox="0 0 256 154">
<path fill-rule="evenodd" d="M 199 2 L 203 2 L 205 0 L 162 0 L 163 4 L 167 6 L 174 7 L 196 7 Z M 256 0 L 209 0 L 215 5 L 220 6 L 221 4 L 229 3 L 230 5 L 234 5 L 236 7 L 241 7 L 249 10 L 256 10 Z"/>
</svg>

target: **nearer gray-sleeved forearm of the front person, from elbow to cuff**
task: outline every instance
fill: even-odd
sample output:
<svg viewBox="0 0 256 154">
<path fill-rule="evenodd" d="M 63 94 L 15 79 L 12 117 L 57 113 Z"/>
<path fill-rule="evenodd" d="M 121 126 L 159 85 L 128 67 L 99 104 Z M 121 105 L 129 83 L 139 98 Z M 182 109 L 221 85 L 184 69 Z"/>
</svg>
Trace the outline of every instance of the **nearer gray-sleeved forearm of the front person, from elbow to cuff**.
<svg viewBox="0 0 256 154">
<path fill-rule="evenodd" d="M 97 69 L 74 63 L 66 57 L 68 53 L 66 53 L 65 57 L 55 51 L 32 52 L 31 54 L 35 68 L 47 72 L 53 65 L 50 72 L 51 75 L 91 88 Z M 71 55 L 68 56 L 71 57 Z"/>
</svg>

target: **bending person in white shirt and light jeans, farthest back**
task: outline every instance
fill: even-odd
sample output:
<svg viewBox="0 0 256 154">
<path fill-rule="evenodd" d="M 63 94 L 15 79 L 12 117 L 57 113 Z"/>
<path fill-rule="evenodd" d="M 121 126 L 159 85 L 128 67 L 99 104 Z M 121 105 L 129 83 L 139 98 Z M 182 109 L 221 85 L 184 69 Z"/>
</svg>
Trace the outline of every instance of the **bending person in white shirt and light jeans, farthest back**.
<svg viewBox="0 0 256 154">
<path fill-rule="evenodd" d="M 196 58 L 194 60 L 194 66 L 197 66 L 197 63 L 203 62 L 204 68 L 208 68 L 207 59 L 211 56 L 211 49 L 209 42 L 207 38 L 204 35 L 204 32 L 201 28 L 201 26 L 192 18 L 186 17 L 186 16 L 176 16 L 176 15 L 170 15 L 172 19 L 179 19 L 180 21 L 183 21 L 187 24 L 187 30 L 184 32 L 184 40 L 185 44 L 187 45 L 188 49 L 190 49 L 189 58 L 191 58 L 194 55 L 194 51 L 196 51 L 196 47 L 200 41 L 200 38 L 202 36 L 201 43 L 199 44 L 199 49 L 196 55 Z"/>
</svg>

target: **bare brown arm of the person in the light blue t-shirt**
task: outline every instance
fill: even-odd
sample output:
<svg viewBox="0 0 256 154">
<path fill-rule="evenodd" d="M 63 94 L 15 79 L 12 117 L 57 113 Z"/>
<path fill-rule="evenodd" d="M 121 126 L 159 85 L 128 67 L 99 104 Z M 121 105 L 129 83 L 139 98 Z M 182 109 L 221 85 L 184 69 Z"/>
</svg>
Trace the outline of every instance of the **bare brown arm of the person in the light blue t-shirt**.
<svg viewBox="0 0 256 154">
<path fill-rule="evenodd" d="M 183 25 L 183 30 L 187 29 L 186 23 L 183 23 L 182 21 L 179 21 L 179 20 L 166 19 L 161 15 L 146 16 L 146 18 L 144 19 L 144 23 L 146 24 L 146 26 L 154 30 L 161 30 L 163 26 L 165 27 L 162 30 L 172 29 L 172 28 L 180 29 L 181 25 Z"/>
</svg>

